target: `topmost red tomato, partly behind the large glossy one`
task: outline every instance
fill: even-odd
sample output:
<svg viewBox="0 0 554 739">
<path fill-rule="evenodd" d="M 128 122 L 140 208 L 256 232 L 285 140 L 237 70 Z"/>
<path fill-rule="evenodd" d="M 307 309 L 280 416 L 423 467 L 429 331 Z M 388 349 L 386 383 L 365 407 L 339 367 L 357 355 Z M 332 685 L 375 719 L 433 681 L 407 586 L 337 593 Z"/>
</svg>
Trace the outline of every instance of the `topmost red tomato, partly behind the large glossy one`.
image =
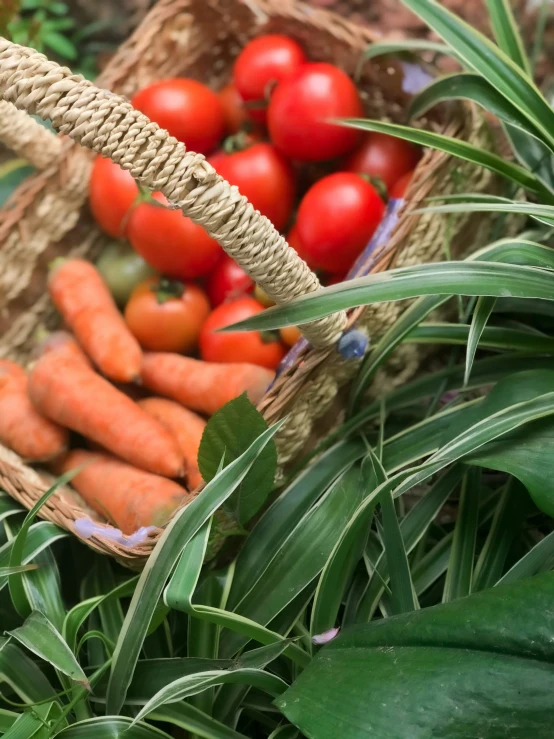
<svg viewBox="0 0 554 739">
<path fill-rule="evenodd" d="M 270 88 L 296 71 L 306 61 L 301 46 L 288 36 L 269 34 L 250 41 L 238 55 L 233 78 L 245 103 L 267 101 Z M 266 120 L 266 108 L 250 107 L 251 118 Z"/>
</svg>

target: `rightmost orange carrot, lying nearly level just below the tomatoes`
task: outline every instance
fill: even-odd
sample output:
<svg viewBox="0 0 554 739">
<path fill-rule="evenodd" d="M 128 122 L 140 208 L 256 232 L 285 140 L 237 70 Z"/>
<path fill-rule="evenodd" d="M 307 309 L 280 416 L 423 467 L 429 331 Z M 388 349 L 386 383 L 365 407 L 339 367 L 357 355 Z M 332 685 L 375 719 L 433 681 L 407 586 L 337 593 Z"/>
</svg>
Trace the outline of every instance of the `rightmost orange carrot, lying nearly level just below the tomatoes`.
<svg viewBox="0 0 554 739">
<path fill-rule="evenodd" d="M 257 403 L 273 377 L 270 370 L 253 364 L 202 362 L 157 352 L 145 353 L 141 375 L 149 390 L 208 415 L 244 392 Z"/>
</svg>

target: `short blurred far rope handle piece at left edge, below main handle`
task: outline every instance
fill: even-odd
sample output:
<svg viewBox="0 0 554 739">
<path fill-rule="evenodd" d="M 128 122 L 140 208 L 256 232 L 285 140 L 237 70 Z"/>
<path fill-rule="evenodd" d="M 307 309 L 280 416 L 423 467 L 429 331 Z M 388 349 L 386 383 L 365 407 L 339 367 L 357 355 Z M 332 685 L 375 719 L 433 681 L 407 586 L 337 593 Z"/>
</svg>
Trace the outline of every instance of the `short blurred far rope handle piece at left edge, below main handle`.
<svg viewBox="0 0 554 739">
<path fill-rule="evenodd" d="M 47 169 L 62 149 L 55 134 L 5 100 L 0 100 L 0 143 L 36 169 Z"/>
</svg>

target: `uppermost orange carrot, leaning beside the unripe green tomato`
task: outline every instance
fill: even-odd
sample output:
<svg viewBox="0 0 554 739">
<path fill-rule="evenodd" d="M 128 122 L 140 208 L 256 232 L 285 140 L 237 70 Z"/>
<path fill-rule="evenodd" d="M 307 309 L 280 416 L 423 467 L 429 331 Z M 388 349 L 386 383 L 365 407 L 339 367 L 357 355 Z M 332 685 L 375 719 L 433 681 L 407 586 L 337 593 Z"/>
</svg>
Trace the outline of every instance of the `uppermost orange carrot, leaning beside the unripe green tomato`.
<svg viewBox="0 0 554 739">
<path fill-rule="evenodd" d="M 101 372 L 116 382 L 136 380 L 142 350 L 95 267 L 84 259 L 56 260 L 48 288 L 56 308 Z"/>
</svg>

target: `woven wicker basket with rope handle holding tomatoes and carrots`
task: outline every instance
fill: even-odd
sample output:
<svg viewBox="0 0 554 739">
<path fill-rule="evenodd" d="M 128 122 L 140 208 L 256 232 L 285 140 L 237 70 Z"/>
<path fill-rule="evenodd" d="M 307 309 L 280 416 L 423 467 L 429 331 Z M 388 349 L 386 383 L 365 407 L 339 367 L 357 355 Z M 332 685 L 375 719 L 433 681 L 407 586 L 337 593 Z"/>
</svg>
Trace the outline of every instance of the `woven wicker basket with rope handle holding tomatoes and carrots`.
<svg viewBox="0 0 554 739">
<path fill-rule="evenodd" d="M 0 98 L 5 101 L 0 102 L 0 139 L 40 169 L 0 211 L 0 357 L 26 361 L 37 327 L 53 325 L 55 313 L 45 290 L 49 262 L 62 254 L 94 257 L 105 243 L 86 208 L 89 150 L 110 156 L 136 179 L 161 190 L 205 226 L 277 303 L 319 288 L 317 278 L 269 221 L 204 157 L 186 152 L 120 97 L 175 75 L 221 85 L 245 42 L 268 31 L 297 38 L 312 59 L 333 60 L 349 73 L 363 49 L 375 40 L 367 30 L 293 0 L 161 0 L 94 86 L 42 55 L 0 39 Z M 402 120 L 407 96 L 400 65 L 366 66 L 360 89 L 368 115 Z M 61 135 L 55 137 L 39 127 L 23 111 L 50 119 Z M 452 109 L 442 123 L 424 124 L 481 143 L 489 135 L 470 106 Z M 442 217 L 415 216 L 410 204 L 436 193 L 479 191 L 489 181 L 488 173 L 426 152 L 410 185 L 408 202 L 391 202 L 383 227 L 356 265 L 356 273 L 440 259 L 447 237 L 454 253 L 477 245 L 482 219 L 457 216 L 449 221 L 447 235 Z M 316 422 L 320 434 L 328 426 L 325 417 L 340 420 L 339 391 L 360 361 L 337 353 L 336 342 L 344 329 L 357 322 L 376 337 L 403 308 L 403 303 L 370 306 L 303 327 L 310 344 L 301 341 L 294 348 L 260 404 L 269 422 L 288 416 L 277 439 L 281 465 L 306 447 Z M 391 367 L 386 376 L 377 378 L 376 387 L 382 390 L 384 384 L 402 381 L 417 363 L 415 348 L 402 347 L 396 369 Z M 48 483 L 43 473 L 0 446 L 0 488 L 29 508 Z M 50 498 L 40 515 L 79 536 L 75 521 L 88 512 L 69 491 Z M 144 564 L 160 535 L 158 530 L 143 543 L 128 546 L 114 541 L 110 527 L 103 526 L 86 543 L 133 568 Z"/>
</svg>

